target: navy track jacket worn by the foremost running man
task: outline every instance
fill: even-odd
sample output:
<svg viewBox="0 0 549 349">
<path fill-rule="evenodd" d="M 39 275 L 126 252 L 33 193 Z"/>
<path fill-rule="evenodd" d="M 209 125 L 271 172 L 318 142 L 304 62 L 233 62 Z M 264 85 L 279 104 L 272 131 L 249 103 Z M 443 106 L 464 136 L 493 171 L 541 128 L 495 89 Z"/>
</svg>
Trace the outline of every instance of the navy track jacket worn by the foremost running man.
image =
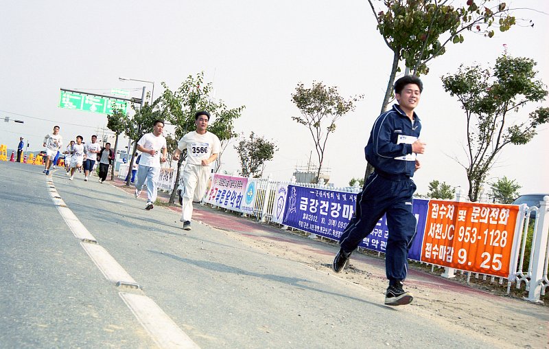
<svg viewBox="0 0 549 349">
<path fill-rule="evenodd" d="M 393 104 L 390 111 L 379 115 L 375 120 L 370 139 L 364 148 L 366 160 L 377 170 L 390 177 L 413 177 L 415 171 L 414 159 L 397 159 L 412 154 L 411 137 L 416 139 L 421 132 L 421 122 L 414 112 L 414 124 L 398 104 Z M 407 138 L 410 143 L 402 142 Z M 400 141 L 399 141 L 400 140 Z"/>
</svg>

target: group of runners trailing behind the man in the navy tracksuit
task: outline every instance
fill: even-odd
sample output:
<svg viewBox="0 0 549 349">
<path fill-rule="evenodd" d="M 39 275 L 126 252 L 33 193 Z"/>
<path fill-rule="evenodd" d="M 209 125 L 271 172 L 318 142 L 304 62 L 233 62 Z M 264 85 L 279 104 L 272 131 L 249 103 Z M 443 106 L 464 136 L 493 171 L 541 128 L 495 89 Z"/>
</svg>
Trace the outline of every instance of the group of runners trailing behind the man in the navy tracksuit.
<svg viewBox="0 0 549 349">
<path fill-rule="evenodd" d="M 198 111 L 195 115 L 196 131 L 185 134 L 178 142 L 178 147 L 172 157 L 178 161 L 181 153 L 187 150 L 187 159 L 183 168 L 183 184 L 178 188 L 180 203 L 182 206 L 180 221 L 183 229 L 191 229 L 193 201 L 200 201 L 206 190 L 208 178 L 211 173 L 210 164 L 218 158 L 221 150 L 219 138 L 207 131 L 210 113 Z M 141 190 L 146 184 L 147 202 L 145 210 L 152 210 L 158 194 L 157 182 L 160 176 L 161 164 L 167 155 L 166 139 L 163 136 L 164 122 L 155 120 L 152 132 L 146 133 L 137 142 L 137 150 L 141 152 L 137 179 L 135 181 L 135 197 L 141 196 Z M 50 168 L 54 164 L 56 154 L 62 148 L 62 137 L 59 134 L 59 126 L 54 126 L 53 133 L 44 137 L 46 148 L 45 174 L 49 175 Z M 65 152 L 65 169 L 67 176 L 72 181 L 77 170 L 84 168 L 84 181 L 89 180 L 90 172 L 94 170 L 95 162 L 99 161 L 99 181 L 106 180 L 109 165 L 115 159 L 110 143 L 104 148 L 97 143 L 97 136 L 91 136 L 91 143 L 84 144 L 81 135 L 69 143 Z"/>
</svg>

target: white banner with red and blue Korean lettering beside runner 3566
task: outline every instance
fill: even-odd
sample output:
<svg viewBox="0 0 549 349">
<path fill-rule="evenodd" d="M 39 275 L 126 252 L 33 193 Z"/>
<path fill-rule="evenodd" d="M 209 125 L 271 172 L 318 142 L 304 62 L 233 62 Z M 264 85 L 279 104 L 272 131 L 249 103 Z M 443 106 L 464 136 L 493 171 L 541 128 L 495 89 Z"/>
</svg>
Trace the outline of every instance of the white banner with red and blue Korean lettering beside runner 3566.
<svg viewBox="0 0 549 349">
<path fill-rule="evenodd" d="M 218 175 L 216 173 L 213 175 L 211 187 L 204 201 L 229 210 L 241 211 L 247 185 L 247 178 Z"/>
</svg>

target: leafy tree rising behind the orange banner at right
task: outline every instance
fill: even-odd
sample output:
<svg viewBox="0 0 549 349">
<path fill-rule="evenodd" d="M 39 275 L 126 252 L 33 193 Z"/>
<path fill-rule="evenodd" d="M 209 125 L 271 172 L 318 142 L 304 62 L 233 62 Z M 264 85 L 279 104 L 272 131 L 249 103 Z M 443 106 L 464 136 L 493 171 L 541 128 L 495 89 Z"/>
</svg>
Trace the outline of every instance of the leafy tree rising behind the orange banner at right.
<svg viewBox="0 0 549 349">
<path fill-rule="evenodd" d="M 471 201 L 478 201 L 480 188 L 502 148 L 527 144 L 537 134 L 537 126 L 549 122 L 546 107 L 538 107 L 528 118 L 519 113 L 548 94 L 543 82 L 536 79 L 535 65 L 530 58 L 504 54 L 493 71 L 462 66 L 456 74 L 442 78 L 445 91 L 455 95 L 465 111 L 467 164 L 458 163 L 467 172 Z"/>
</svg>

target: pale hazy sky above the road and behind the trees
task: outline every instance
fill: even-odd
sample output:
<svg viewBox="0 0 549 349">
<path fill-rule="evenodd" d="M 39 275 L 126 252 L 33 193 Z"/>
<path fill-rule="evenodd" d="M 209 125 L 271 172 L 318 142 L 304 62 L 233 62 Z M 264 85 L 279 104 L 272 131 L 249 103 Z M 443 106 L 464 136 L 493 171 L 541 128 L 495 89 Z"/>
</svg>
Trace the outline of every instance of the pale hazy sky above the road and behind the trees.
<svg viewBox="0 0 549 349">
<path fill-rule="evenodd" d="M 533 19 L 534 27 L 496 30 L 491 39 L 466 33 L 465 43 L 449 45 L 422 77 L 425 89 L 416 111 L 428 148 L 414 176 L 419 193 L 428 191 L 432 179 L 467 189 L 465 170 L 453 159 L 466 161 L 465 117 L 456 98 L 444 92 L 442 75 L 462 63 L 493 65 L 506 44 L 511 56 L 536 60 L 539 78 L 549 82 L 549 2 L 507 4 L 536 9 L 515 12 Z M 23 135 L 30 150 L 40 150 L 54 124 L 65 139 L 78 134 L 89 139 L 106 125 L 105 115 L 60 109 L 61 87 L 106 94 L 111 88 L 132 89 L 138 98 L 143 85 L 150 91 L 150 84 L 118 80 L 124 76 L 154 81 L 158 96 L 161 82 L 176 89 L 190 74 L 204 71 L 215 98 L 229 107 L 246 106 L 235 123 L 237 133 L 254 131 L 277 143 L 279 151 L 264 174 L 288 180 L 314 150 L 308 129 L 291 118 L 299 115 L 291 101 L 296 85 L 317 80 L 337 86 L 344 96 L 364 94 L 328 139 L 325 165 L 338 186 L 364 175 L 364 146 L 393 57 L 366 0 L 3 1 L 0 47 L 0 143 L 8 148 L 16 148 Z M 5 116 L 25 124 L 5 123 Z M 543 126 L 533 142 L 502 152 L 490 181 L 506 175 L 522 185 L 522 193 L 549 192 L 548 148 L 549 126 Z M 231 145 L 222 170 L 239 167 Z"/>
</svg>

